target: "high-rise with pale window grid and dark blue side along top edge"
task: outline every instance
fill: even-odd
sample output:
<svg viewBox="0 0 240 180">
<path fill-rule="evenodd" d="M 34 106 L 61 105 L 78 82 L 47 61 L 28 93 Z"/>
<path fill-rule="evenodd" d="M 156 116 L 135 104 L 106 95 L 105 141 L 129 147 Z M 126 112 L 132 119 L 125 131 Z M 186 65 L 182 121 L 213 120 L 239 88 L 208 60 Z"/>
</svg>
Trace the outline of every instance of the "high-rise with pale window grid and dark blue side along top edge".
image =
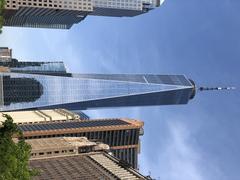
<svg viewBox="0 0 240 180">
<path fill-rule="evenodd" d="M 4 25 L 69 29 L 87 15 L 136 16 L 164 0 L 6 0 Z"/>
</svg>

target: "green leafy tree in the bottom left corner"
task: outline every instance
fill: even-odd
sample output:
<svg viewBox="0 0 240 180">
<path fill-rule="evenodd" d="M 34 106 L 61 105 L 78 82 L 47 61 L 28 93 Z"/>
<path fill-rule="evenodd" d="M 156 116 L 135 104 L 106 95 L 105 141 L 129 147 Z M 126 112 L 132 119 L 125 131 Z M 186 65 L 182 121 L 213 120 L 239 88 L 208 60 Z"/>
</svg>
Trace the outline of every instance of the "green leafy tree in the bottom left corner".
<svg viewBox="0 0 240 180">
<path fill-rule="evenodd" d="M 0 180 L 28 180 L 38 175 L 38 171 L 29 168 L 31 146 L 24 141 L 22 133 L 9 115 L 0 128 Z M 13 135 L 20 140 L 15 143 Z"/>
</svg>

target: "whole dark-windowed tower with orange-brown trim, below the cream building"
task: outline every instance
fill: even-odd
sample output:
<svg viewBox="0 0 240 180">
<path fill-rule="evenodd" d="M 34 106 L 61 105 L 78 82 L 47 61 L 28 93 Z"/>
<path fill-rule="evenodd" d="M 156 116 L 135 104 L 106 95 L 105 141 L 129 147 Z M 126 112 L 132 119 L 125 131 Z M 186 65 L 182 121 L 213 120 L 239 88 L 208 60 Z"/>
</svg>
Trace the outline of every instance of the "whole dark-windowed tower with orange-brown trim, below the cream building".
<svg viewBox="0 0 240 180">
<path fill-rule="evenodd" d="M 87 137 L 94 142 L 110 146 L 113 154 L 137 168 L 139 136 L 143 135 L 143 122 L 130 119 L 99 119 L 19 124 L 25 139 L 51 137 Z"/>
</svg>

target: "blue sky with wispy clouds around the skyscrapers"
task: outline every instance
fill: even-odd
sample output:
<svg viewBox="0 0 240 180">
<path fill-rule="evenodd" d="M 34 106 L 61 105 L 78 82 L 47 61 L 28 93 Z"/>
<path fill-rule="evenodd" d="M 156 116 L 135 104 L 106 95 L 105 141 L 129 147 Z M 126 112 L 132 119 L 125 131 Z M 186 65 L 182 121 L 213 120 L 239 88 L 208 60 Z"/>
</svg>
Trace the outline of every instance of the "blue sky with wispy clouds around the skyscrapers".
<svg viewBox="0 0 240 180">
<path fill-rule="evenodd" d="M 187 105 L 86 111 L 144 121 L 140 172 L 160 180 L 240 177 L 240 1 L 166 0 L 132 18 L 89 16 L 70 30 L 3 28 L 19 60 L 62 60 L 75 73 L 185 74 L 199 92 Z"/>
</svg>

